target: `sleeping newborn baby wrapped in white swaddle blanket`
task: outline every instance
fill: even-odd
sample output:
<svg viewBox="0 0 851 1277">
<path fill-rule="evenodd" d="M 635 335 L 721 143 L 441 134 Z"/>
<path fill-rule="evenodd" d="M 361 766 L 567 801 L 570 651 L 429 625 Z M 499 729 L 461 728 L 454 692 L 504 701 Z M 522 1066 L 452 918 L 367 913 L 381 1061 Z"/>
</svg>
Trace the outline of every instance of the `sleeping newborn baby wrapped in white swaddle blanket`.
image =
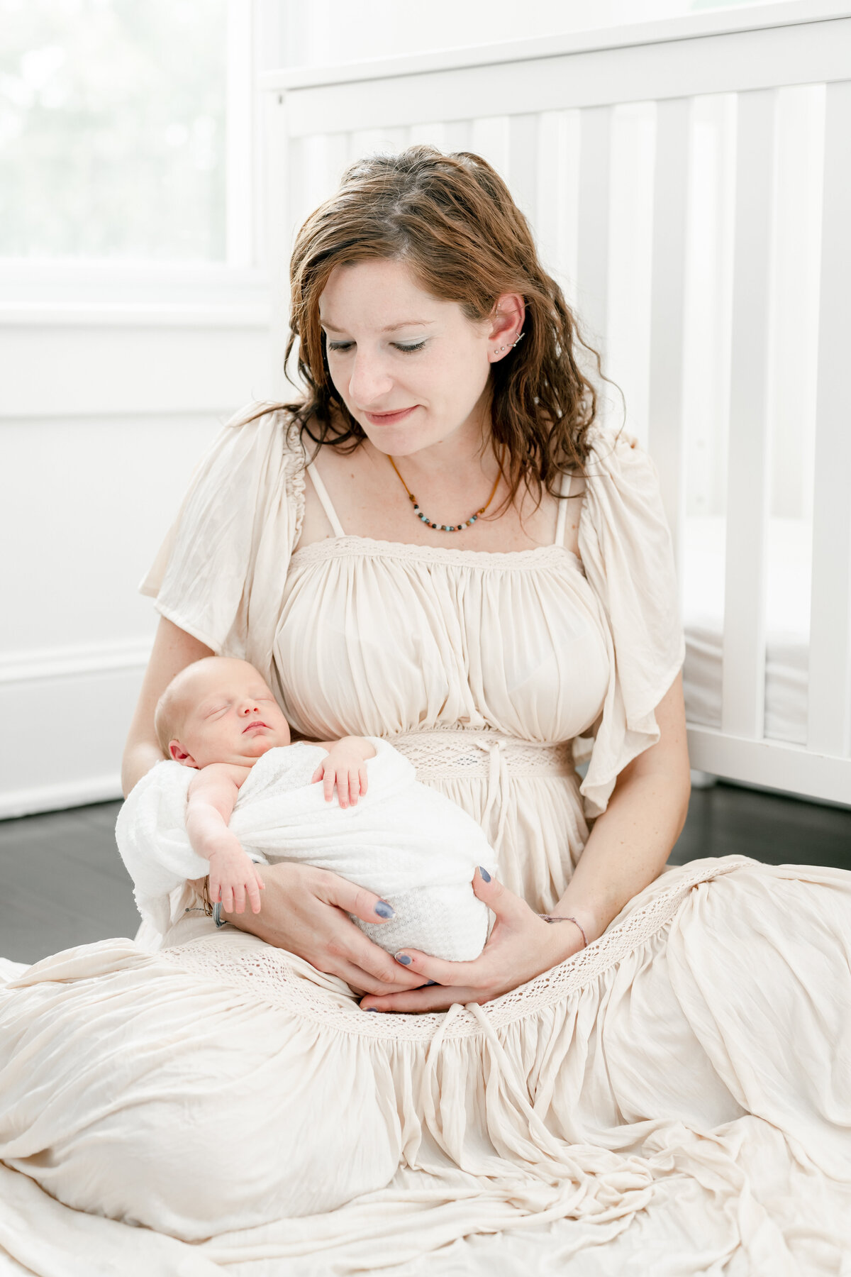
<svg viewBox="0 0 851 1277">
<path fill-rule="evenodd" d="M 458 962 L 481 953 L 487 908 L 472 877 L 477 865 L 494 871 L 490 844 L 387 741 L 290 743 L 258 670 L 221 656 L 176 676 L 156 727 L 170 761 L 128 797 L 116 838 L 139 911 L 159 935 L 188 880 L 209 875 L 211 900 L 241 912 L 248 898 L 256 913 L 258 865 L 290 859 L 380 895 L 389 921 L 352 921 L 389 953 L 411 946 Z"/>
</svg>

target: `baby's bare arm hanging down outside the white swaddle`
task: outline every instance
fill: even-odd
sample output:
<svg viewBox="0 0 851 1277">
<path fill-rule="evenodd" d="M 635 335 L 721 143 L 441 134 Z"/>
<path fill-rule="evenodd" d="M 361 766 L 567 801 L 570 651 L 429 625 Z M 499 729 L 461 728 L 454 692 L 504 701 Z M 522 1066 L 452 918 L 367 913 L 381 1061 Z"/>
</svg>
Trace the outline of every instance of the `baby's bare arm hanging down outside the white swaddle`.
<svg viewBox="0 0 851 1277">
<path fill-rule="evenodd" d="M 193 850 L 209 861 L 209 898 L 221 900 L 227 913 L 242 913 L 248 894 L 251 912 L 260 912 L 260 891 L 265 886 L 256 865 L 245 854 L 230 831 L 236 796 L 249 767 L 211 762 L 189 784 L 186 833 Z"/>
</svg>

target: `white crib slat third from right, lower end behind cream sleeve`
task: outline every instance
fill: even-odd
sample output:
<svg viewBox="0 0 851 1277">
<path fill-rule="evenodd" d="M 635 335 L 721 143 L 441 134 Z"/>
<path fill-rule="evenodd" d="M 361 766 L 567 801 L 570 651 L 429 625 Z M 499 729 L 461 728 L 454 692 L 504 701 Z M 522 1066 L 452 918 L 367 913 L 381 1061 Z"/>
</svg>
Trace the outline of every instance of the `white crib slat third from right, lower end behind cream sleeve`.
<svg viewBox="0 0 851 1277">
<path fill-rule="evenodd" d="M 649 451 L 658 470 L 674 538 L 680 589 L 685 521 L 683 377 L 690 119 L 689 98 L 671 98 L 657 105 L 651 280 Z"/>
</svg>

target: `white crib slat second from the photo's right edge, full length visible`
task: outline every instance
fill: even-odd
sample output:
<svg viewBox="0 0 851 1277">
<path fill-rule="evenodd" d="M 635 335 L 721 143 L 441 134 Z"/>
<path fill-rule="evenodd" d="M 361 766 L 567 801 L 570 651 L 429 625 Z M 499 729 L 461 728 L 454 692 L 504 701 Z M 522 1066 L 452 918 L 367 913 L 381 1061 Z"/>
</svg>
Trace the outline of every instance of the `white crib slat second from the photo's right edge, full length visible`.
<svg viewBox="0 0 851 1277">
<path fill-rule="evenodd" d="M 739 96 L 721 722 L 751 739 L 763 737 L 766 700 L 774 115 L 774 89 Z"/>
</svg>

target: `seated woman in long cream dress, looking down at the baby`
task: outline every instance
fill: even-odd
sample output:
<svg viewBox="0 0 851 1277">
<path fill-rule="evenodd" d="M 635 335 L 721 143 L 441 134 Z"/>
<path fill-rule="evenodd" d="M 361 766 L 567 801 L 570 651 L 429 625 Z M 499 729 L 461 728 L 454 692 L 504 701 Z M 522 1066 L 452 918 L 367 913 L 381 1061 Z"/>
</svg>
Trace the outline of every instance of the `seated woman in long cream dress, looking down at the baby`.
<svg viewBox="0 0 851 1277">
<path fill-rule="evenodd" d="M 365 161 L 292 289 L 307 398 L 195 475 L 125 784 L 174 673 L 246 656 L 305 737 L 387 736 L 482 822 L 491 937 L 394 959 L 347 917 L 378 898 L 279 866 L 236 927 L 181 902 L 157 953 L 37 964 L 0 1002 L 9 1191 L 102 1258 L 144 1225 L 139 1272 L 840 1272 L 851 877 L 660 876 L 689 793 L 669 534 L 522 215 L 476 156 Z"/>
</svg>

